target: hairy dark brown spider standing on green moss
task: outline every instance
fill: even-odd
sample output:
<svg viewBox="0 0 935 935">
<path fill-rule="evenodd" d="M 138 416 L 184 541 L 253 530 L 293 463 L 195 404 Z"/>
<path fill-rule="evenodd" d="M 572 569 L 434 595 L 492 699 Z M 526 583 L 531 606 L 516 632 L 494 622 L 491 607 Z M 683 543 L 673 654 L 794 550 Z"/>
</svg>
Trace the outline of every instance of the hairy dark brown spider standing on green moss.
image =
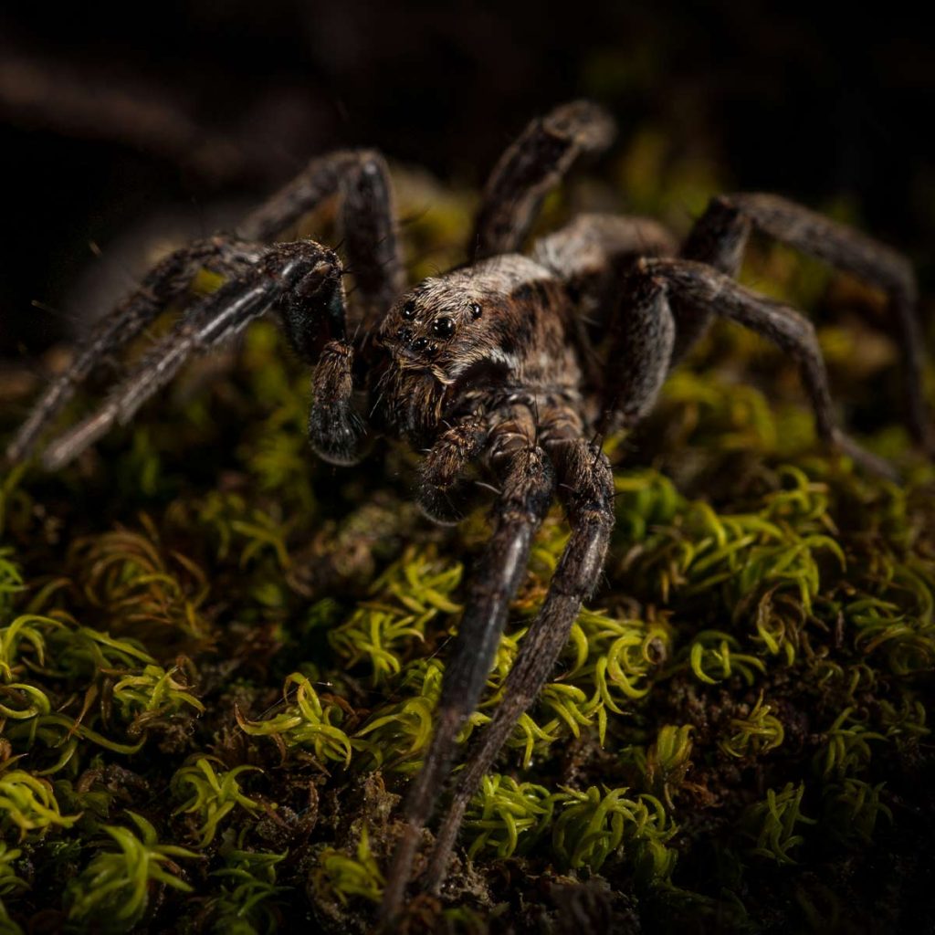
<svg viewBox="0 0 935 935">
<path fill-rule="evenodd" d="M 800 369 L 827 444 L 890 475 L 838 426 L 812 324 L 798 311 L 734 281 L 753 229 L 883 289 L 903 357 L 907 418 L 930 448 L 921 389 L 923 343 L 911 266 L 896 252 L 770 194 L 715 197 L 680 246 L 649 219 L 584 214 L 521 250 L 543 198 L 579 157 L 605 150 L 614 124 L 576 101 L 529 123 L 488 181 L 469 262 L 407 289 L 386 164 L 374 151 L 339 151 L 309 164 L 232 235 L 172 253 L 106 315 L 70 366 L 51 382 L 11 442 L 20 460 L 103 358 L 135 338 L 167 306 L 187 307 L 173 330 L 131 368 L 106 402 L 45 450 L 65 465 L 172 380 L 187 358 L 277 309 L 286 336 L 314 367 L 311 447 L 351 464 L 376 435 L 424 451 L 417 499 L 441 523 L 458 522 L 486 485 L 496 497 L 493 532 L 473 577 L 453 641 L 422 770 L 410 783 L 404 824 L 381 917 L 401 909 L 422 829 L 445 791 L 456 738 L 474 712 L 530 544 L 554 497 L 571 535 L 503 699 L 453 782 L 424 886 L 437 891 L 468 799 L 516 721 L 554 668 L 583 601 L 597 588 L 613 525 L 613 477 L 598 442 L 652 409 L 669 370 L 715 316 L 769 339 Z M 340 197 L 344 266 L 313 240 L 275 242 L 324 198 Z M 192 299 L 195 273 L 225 284 Z"/>
</svg>

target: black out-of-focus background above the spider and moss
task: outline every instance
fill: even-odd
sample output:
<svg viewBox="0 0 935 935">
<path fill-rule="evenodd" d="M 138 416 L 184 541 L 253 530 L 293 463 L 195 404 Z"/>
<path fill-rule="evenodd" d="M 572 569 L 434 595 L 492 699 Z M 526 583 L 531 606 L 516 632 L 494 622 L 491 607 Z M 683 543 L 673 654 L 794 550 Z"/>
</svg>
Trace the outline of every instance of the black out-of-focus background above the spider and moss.
<svg viewBox="0 0 935 935">
<path fill-rule="evenodd" d="M 0 356 L 67 335 L 91 244 L 155 209 L 256 199 L 351 144 L 481 184 L 529 117 L 581 95 L 621 145 L 651 124 L 739 188 L 849 196 L 931 291 L 935 54 L 907 7 L 17 7 L 0 13 Z"/>
</svg>

